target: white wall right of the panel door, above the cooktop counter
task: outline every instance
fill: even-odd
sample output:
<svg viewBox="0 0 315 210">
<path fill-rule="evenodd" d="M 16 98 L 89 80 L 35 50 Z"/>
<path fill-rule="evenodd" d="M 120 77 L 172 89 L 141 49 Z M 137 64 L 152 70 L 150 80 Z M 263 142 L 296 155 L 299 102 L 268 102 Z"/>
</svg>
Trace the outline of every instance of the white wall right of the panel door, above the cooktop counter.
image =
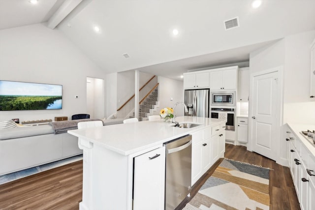
<svg viewBox="0 0 315 210">
<path fill-rule="evenodd" d="M 285 37 L 284 123 L 315 124 L 310 98 L 311 44 L 315 30 Z"/>
</svg>

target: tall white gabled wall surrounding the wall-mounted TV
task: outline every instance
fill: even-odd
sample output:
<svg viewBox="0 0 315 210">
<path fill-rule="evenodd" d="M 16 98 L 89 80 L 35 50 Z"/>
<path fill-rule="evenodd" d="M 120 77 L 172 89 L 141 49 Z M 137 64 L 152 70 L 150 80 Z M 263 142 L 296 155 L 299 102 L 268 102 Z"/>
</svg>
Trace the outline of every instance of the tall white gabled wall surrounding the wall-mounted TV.
<svg viewBox="0 0 315 210">
<path fill-rule="evenodd" d="M 59 30 L 42 24 L 0 30 L 1 80 L 63 85 L 62 110 L 0 111 L 1 120 L 71 119 L 73 114 L 86 113 L 87 76 L 105 78 Z"/>
</svg>

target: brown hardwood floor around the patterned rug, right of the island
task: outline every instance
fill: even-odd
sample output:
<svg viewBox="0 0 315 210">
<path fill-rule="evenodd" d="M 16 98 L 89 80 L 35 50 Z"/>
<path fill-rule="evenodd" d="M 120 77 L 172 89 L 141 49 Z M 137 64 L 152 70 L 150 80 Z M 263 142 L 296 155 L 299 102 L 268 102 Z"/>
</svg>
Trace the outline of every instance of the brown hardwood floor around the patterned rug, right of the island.
<svg viewBox="0 0 315 210">
<path fill-rule="evenodd" d="M 270 170 L 269 177 L 270 210 L 300 210 L 300 205 L 288 167 L 281 166 L 265 156 L 248 151 L 244 146 L 225 144 L 224 157 L 273 169 Z M 204 182 L 211 177 L 212 173 L 220 165 L 222 160 L 223 158 L 218 160 L 208 172 L 192 186 L 190 198 L 182 202 L 176 210 L 181 210 L 185 207 Z"/>
</svg>

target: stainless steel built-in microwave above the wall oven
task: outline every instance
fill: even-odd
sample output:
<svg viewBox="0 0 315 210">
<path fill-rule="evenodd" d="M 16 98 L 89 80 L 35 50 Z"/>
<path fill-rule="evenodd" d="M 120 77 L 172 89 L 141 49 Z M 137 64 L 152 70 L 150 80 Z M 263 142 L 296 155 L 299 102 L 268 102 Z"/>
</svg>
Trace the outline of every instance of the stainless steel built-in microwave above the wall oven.
<svg viewBox="0 0 315 210">
<path fill-rule="evenodd" d="M 235 91 L 211 92 L 211 106 L 235 106 Z"/>
</svg>

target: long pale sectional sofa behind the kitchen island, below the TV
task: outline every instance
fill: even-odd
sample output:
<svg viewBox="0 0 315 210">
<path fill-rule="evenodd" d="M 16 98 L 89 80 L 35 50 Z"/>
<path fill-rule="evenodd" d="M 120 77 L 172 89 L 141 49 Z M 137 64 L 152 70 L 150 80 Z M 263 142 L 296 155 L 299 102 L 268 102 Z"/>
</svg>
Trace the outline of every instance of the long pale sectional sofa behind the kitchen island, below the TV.
<svg viewBox="0 0 315 210">
<path fill-rule="evenodd" d="M 123 120 L 103 120 L 103 124 L 123 123 Z M 82 152 L 78 147 L 77 137 L 66 131 L 57 133 L 49 124 L 1 129 L 0 175 L 61 160 Z"/>
</svg>

